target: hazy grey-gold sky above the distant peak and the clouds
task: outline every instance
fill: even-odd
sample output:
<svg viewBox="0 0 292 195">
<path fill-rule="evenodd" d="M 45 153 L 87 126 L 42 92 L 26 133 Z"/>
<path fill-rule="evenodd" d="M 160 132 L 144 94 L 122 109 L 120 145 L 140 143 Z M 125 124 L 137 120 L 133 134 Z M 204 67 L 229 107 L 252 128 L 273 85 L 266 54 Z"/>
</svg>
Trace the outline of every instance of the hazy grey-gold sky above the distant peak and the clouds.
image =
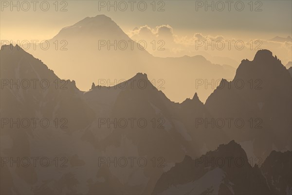
<svg viewBox="0 0 292 195">
<path fill-rule="evenodd" d="M 175 34 L 184 36 L 202 33 L 237 39 L 271 39 L 275 36 L 287 37 L 292 33 L 291 0 L 230 1 L 230 11 L 228 11 L 229 6 L 226 0 L 157 0 L 155 3 L 152 0 L 133 1 L 133 11 L 131 11 L 129 0 L 122 3 L 111 0 L 111 4 L 116 3 L 117 11 L 114 11 L 114 7 L 108 11 L 108 0 L 59 0 L 58 11 L 55 11 L 55 0 L 37 1 L 36 11 L 31 1 L 28 1 L 30 2 L 28 11 L 25 11 L 27 4 L 23 1 L 18 2 L 19 11 L 17 7 L 12 7 L 13 11 L 10 10 L 10 0 L 0 1 L 0 39 L 50 39 L 61 28 L 72 25 L 85 17 L 99 14 L 109 16 L 125 32 L 146 24 L 153 28 L 169 24 Z M 48 11 L 42 11 L 41 8 L 46 9 L 47 2 L 50 8 Z M 144 2 L 147 8 L 145 11 L 140 11 L 144 9 Z M 224 9 L 222 9 L 222 2 Z M 17 1 L 13 3 L 17 4 Z M 122 11 L 125 3 L 128 8 Z M 205 11 L 206 3 L 210 5 L 213 3 L 214 11 L 212 7 L 207 7 L 208 10 Z M 104 4 L 106 4 L 105 7 L 102 7 Z M 153 4 L 155 4 L 155 11 L 153 11 Z M 60 11 L 62 7 L 68 11 Z M 160 7 L 164 11 L 157 11 Z M 222 11 L 219 11 L 220 9 Z M 240 9 L 242 11 L 237 11 Z"/>
</svg>

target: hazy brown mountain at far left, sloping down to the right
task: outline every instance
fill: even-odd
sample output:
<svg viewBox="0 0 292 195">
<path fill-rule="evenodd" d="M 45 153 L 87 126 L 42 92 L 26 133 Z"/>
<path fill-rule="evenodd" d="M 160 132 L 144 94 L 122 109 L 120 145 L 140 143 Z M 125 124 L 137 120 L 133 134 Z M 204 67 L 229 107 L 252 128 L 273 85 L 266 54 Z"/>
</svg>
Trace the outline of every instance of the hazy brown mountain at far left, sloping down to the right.
<svg viewBox="0 0 292 195">
<path fill-rule="evenodd" d="M 75 82 L 61 80 L 42 61 L 18 45 L 1 47 L 0 69 L 1 157 L 17 160 L 75 154 L 72 142 L 76 138 L 72 135 L 86 128 L 93 119 L 93 112 L 80 98 L 81 92 Z M 2 119 L 9 119 L 9 122 L 4 124 Z M 5 165 L 3 173 L 1 167 L 1 193 L 59 194 L 60 191 L 55 191 L 56 185 L 67 186 L 71 192 L 70 180 L 58 180 L 58 176 L 67 176 L 68 172 L 58 170 L 56 174 L 54 171 L 54 168 Z M 44 176 L 50 172 L 54 172 L 55 177 L 44 181 Z M 21 188 L 17 180 L 22 183 Z M 2 181 L 7 182 L 3 188 Z"/>
</svg>

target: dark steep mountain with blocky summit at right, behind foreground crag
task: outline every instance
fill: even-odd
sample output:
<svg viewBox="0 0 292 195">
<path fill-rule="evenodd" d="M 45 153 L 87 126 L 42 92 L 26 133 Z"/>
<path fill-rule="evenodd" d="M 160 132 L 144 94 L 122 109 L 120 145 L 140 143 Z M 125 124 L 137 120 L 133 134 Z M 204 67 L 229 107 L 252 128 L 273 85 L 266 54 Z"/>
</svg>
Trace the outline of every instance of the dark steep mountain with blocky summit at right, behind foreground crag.
<svg viewBox="0 0 292 195">
<path fill-rule="evenodd" d="M 253 140 L 253 153 L 265 158 L 273 149 L 291 149 L 291 84 L 281 61 L 260 50 L 253 61 L 241 61 L 233 81 L 222 79 L 205 106 L 214 118 L 242 118 L 246 125 L 225 133 L 237 142 Z"/>
</svg>

